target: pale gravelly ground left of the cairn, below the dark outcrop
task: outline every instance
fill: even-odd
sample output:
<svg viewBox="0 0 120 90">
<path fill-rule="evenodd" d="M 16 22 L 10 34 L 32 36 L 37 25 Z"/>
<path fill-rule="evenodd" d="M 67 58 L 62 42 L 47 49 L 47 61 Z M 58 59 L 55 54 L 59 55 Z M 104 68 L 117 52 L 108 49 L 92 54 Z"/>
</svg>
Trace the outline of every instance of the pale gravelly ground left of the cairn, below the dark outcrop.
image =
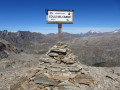
<svg viewBox="0 0 120 90">
<path fill-rule="evenodd" d="M 0 61 L 0 72 L 35 67 L 39 63 L 39 57 L 39 55 L 26 54 L 24 52 L 19 54 L 11 52 L 7 58 L 3 58 Z"/>
</svg>

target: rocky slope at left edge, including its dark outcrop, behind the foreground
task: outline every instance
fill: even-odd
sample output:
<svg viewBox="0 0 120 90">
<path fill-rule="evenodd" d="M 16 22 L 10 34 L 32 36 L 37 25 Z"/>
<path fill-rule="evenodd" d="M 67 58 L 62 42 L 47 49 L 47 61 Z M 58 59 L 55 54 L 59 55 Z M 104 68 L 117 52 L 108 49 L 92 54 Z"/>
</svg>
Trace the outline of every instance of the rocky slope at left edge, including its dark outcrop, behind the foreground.
<svg viewBox="0 0 120 90">
<path fill-rule="evenodd" d="M 36 66 L 39 55 L 26 54 L 6 40 L 0 39 L 0 72 Z"/>
</svg>

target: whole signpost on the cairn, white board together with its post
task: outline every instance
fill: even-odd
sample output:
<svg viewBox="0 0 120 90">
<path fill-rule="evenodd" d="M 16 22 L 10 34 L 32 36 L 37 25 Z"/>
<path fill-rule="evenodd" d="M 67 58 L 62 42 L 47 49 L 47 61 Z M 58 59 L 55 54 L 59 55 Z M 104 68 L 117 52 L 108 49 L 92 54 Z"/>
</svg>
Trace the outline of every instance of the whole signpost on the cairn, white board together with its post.
<svg viewBox="0 0 120 90">
<path fill-rule="evenodd" d="M 58 41 L 61 41 L 62 24 L 73 24 L 74 10 L 46 9 L 47 24 L 58 24 Z"/>
</svg>

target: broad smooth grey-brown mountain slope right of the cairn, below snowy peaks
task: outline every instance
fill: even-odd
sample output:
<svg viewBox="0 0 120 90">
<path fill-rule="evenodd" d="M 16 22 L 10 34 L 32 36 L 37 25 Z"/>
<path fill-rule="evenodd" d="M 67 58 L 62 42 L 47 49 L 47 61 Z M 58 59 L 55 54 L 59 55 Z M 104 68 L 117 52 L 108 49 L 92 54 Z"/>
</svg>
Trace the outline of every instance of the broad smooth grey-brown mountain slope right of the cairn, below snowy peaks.
<svg viewBox="0 0 120 90">
<path fill-rule="evenodd" d="M 96 35 L 76 38 L 70 44 L 79 59 L 87 65 L 120 62 L 120 34 Z M 109 65 L 107 65 L 109 66 Z"/>
</svg>

